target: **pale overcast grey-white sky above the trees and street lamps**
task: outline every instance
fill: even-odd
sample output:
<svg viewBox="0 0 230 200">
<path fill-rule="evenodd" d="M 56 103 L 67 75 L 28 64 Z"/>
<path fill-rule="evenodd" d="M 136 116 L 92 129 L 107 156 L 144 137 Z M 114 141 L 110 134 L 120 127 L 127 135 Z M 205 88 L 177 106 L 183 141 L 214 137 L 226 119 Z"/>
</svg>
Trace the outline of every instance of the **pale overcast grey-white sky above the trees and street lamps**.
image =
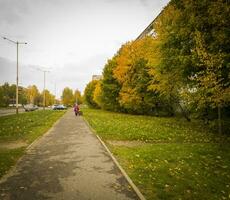
<svg viewBox="0 0 230 200">
<path fill-rule="evenodd" d="M 19 84 L 84 91 L 120 46 L 134 40 L 169 0 L 0 0 L 0 36 L 19 47 Z M 0 38 L 0 84 L 15 83 L 16 45 Z"/>
</svg>

